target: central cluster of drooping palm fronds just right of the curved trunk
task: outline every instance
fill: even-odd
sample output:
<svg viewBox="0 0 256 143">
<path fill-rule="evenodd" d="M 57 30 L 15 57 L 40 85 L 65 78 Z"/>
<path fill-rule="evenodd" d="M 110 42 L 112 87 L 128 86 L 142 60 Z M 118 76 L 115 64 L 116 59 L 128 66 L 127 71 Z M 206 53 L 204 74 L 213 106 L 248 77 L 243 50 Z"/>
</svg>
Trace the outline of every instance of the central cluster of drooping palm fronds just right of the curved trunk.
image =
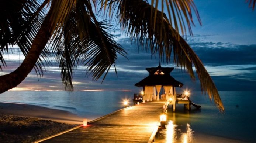
<svg viewBox="0 0 256 143">
<path fill-rule="evenodd" d="M 76 65 L 84 63 L 87 74 L 98 80 L 105 72 L 106 76 L 118 53 L 124 56 L 126 53 L 105 31 L 110 25 L 97 21 L 90 1 L 77 0 L 67 15 L 51 41 L 60 63 L 62 82 L 66 89 L 73 89 L 72 75 Z"/>
</svg>

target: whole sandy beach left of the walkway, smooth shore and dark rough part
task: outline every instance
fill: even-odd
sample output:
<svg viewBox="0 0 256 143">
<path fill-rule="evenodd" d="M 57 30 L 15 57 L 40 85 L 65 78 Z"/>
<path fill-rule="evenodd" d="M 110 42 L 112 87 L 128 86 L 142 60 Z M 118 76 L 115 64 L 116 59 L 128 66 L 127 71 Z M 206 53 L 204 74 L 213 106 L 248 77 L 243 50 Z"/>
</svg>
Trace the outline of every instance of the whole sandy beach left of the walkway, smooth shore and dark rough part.
<svg viewBox="0 0 256 143">
<path fill-rule="evenodd" d="M 82 118 L 63 110 L 0 103 L 0 142 L 29 143 L 82 124 Z"/>
</svg>

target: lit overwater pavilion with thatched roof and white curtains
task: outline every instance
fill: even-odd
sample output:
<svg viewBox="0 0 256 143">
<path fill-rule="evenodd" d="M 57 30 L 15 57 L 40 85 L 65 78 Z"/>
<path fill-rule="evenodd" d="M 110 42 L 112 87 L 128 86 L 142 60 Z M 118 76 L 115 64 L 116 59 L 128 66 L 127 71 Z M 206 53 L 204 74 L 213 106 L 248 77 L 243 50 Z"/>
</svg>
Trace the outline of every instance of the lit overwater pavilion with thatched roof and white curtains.
<svg viewBox="0 0 256 143">
<path fill-rule="evenodd" d="M 170 73 L 174 67 L 161 67 L 159 63 L 158 67 L 146 68 L 149 72 L 149 76 L 144 78 L 135 84 L 137 87 L 143 87 L 141 94 L 134 94 L 134 103 L 143 101 L 159 101 L 166 100 L 173 105 L 173 111 L 175 111 L 175 104 L 184 104 L 186 109 L 191 109 L 191 104 L 197 108 L 200 108 L 189 100 L 188 96 L 184 94 L 176 94 L 176 87 L 182 87 L 183 83 L 175 80 Z M 163 94 L 161 89 L 163 87 Z M 160 97 L 161 95 L 161 97 Z"/>
</svg>

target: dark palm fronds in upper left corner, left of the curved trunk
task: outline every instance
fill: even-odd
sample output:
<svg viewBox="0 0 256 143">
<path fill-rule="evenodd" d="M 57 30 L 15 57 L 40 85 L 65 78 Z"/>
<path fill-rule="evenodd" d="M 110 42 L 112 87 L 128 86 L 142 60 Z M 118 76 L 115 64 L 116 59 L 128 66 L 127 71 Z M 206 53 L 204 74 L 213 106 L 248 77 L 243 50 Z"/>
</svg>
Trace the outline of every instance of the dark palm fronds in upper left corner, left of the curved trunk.
<svg viewBox="0 0 256 143">
<path fill-rule="evenodd" d="M 18 45 L 24 56 L 31 47 L 31 43 L 39 30 L 45 15 L 43 10 L 44 3 L 38 0 L 8 0 L 0 1 L 0 12 L 5 13 L 0 16 L 0 49 L 8 52 L 8 45 Z M 6 65 L 2 54 L 0 60 Z M 47 49 L 41 54 L 35 65 L 35 71 L 41 76 L 43 74 L 44 63 L 49 64 L 46 60 L 48 55 Z M 1 65 L 0 65 L 1 69 Z"/>
</svg>

